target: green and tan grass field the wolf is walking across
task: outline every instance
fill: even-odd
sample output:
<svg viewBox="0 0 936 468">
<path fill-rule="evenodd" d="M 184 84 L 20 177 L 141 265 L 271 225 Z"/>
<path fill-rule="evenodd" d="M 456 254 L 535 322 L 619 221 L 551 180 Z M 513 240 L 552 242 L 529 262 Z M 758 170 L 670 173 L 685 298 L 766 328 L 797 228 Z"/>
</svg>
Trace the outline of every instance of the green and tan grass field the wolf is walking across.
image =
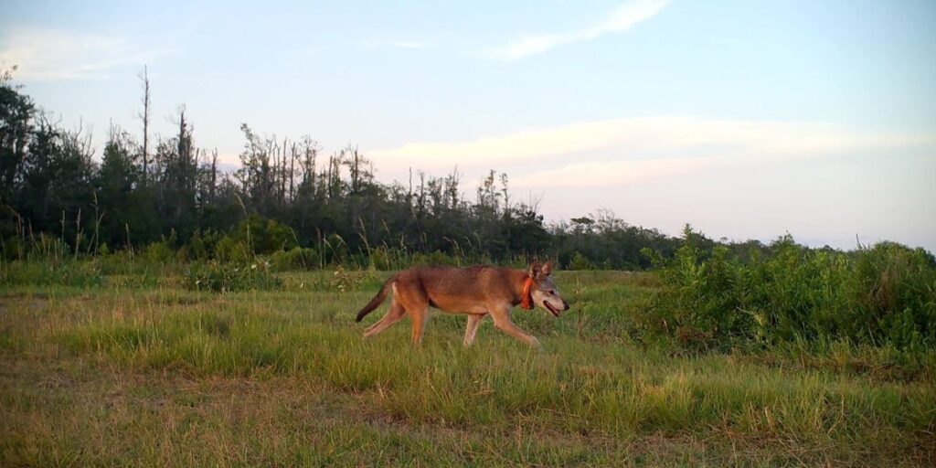
<svg viewBox="0 0 936 468">
<path fill-rule="evenodd" d="M 0 291 L 0 465 L 933 466 L 936 378 L 884 350 L 692 353 L 640 332 L 651 277 L 560 272 L 545 346 L 434 314 L 364 342 L 388 273 L 276 291 L 178 277 Z"/>
</svg>

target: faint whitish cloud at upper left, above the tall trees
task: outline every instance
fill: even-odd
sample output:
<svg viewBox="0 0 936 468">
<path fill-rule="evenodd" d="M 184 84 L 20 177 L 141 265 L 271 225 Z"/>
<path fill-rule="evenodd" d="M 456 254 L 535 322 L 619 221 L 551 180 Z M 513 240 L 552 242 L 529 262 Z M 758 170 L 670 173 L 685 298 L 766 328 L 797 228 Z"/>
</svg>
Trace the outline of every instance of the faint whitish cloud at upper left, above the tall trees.
<svg viewBox="0 0 936 468">
<path fill-rule="evenodd" d="M 105 78 L 110 68 L 142 66 L 163 53 L 141 49 L 124 37 L 19 28 L 3 37 L 0 64 L 19 66 L 20 80 Z"/>
</svg>

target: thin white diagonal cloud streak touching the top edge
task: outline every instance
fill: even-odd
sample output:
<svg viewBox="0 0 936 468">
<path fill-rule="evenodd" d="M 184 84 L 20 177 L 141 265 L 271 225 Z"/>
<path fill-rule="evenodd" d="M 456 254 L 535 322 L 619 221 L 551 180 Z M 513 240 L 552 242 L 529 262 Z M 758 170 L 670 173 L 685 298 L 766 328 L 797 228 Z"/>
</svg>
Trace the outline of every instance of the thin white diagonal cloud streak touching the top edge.
<svg viewBox="0 0 936 468">
<path fill-rule="evenodd" d="M 591 27 L 570 33 L 520 37 L 505 47 L 488 51 L 487 55 L 502 60 L 517 60 L 563 44 L 592 40 L 606 33 L 619 33 L 630 29 L 638 22 L 651 19 L 663 11 L 668 4 L 669 0 L 632 0 L 614 10 L 606 21 Z"/>
</svg>

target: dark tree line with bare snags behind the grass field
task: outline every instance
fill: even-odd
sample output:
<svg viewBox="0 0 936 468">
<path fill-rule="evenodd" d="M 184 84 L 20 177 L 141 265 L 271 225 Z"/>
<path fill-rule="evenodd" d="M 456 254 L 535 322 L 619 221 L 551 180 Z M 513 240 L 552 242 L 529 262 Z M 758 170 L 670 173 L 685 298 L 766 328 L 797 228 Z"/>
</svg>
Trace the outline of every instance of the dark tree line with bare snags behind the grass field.
<svg viewBox="0 0 936 468">
<path fill-rule="evenodd" d="M 248 124 L 241 124 L 240 168 L 222 170 L 216 151 L 197 147 L 184 108 L 172 136 L 150 135 L 145 71 L 142 135 L 111 125 L 97 160 L 90 135 L 39 108 L 14 83 L 14 69 L 0 73 L 0 236 L 7 259 L 49 239 L 76 255 L 161 242 L 207 258 L 222 256 L 219 244 L 240 240 L 254 254 L 328 244 L 341 245 L 347 256 L 384 248 L 645 269 L 650 258 L 642 249 L 669 256 L 686 241 L 628 225 L 611 212 L 547 224 L 535 203 L 511 197 L 507 175 L 494 170 L 473 199 L 463 195 L 457 169 L 444 176 L 411 171 L 408 181 L 381 183 L 357 147 L 324 154 L 311 137 L 278 139 Z M 716 243 L 691 235 L 709 250 Z M 766 248 L 758 241 L 732 247 Z"/>
</svg>

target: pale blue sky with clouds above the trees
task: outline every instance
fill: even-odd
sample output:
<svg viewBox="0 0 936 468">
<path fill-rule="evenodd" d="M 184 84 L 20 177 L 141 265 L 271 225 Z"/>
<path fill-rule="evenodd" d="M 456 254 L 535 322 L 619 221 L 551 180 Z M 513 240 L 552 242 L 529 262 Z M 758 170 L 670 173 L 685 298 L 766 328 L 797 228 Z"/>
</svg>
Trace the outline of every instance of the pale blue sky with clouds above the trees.
<svg viewBox="0 0 936 468">
<path fill-rule="evenodd" d="M 356 145 L 383 182 L 490 169 L 548 221 L 936 252 L 936 2 L 0 2 L 0 66 L 66 126 L 184 106 Z"/>
</svg>

